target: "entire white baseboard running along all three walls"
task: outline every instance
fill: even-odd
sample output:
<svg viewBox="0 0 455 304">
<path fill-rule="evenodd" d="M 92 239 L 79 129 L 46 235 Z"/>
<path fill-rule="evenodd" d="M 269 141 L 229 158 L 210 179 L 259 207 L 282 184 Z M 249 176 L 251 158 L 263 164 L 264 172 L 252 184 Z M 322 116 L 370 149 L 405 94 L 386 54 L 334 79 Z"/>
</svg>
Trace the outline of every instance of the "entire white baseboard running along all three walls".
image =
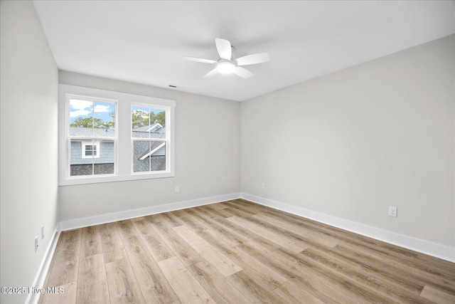
<svg viewBox="0 0 455 304">
<path fill-rule="evenodd" d="M 215 204 L 220 201 L 230 201 L 232 199 L 247 199 L 248 201 L 253 201 L 257 204 L 262 204 L 264 206 L 271 207 L 273 209 L 278 209 L 285 211 L 291 214 L 296 214 L 298 216 L 303 216 L 307 219 L 312 219 L 314 221 L 319 221 L 323 224 L 328 224 L 330 226 L 335 226 L 340 229 L 347 231 L 352 231 L 355 234 L 360 234 L 363 236 L 368 236 L 373 239 L 378 239 L 380 241 L 385 241 L 387 243 L 392 243 L 397 246 L 408 248 L 417 252 L 428 254 L 429 256 L 434 256 L 437 258 L 444 259 L 446 261 L 455 262 L 455 248 L 449 246 L 439 245 L 437 243 L 432 243 L 429 241 L 423 241 L 420 239 L 414 239 L 410 236 L 403 236 L 402 234 L 395 234 L 391 231 L 386 231 L 383 229 L 378 229 L 372 226 L 365 224 L 359 224 L 354 221 L 348 221 L 346 219 L 340 219 L 336 216 L 330 216 L 327 214 L 321 214 L 319 212 L 310 211 L 303 209 L 297 206 L 291 206 L 288 204 L 283 204 L 279 201 L 273 201 L 271 199 L 264 199 L 259 196 L 254 196 L 246 193 L 232 193 L 224 194 L 220 196 L 211 196 L 203 199 L 193 199 L 190 201 L 181 201 L 172 204 L 165 204 L 159 206 L 151 206 L 142 209 L 134 209 L 127 211 L 115 212 L 112 214 L 102 214 L 99 216 L 90 216 L 82 219 L 73 219 L 69 221 L 61 221 L 57 229 L 55 229 L 53 234 L 53 239 L 50 241 L 50 244 L 47 248 L 41 266 L 36 275 L 33 286 L 36 288 L 43 288 L 45 283 L 45 277 L 48 274 L 50 267 L 50 262 L 52 261 L 53 254 L 55 251 L 55 246 L 57 246 L 58 238 L 60 236 L 60 231 L 77 229 L 81 227 L 93 226 L 98 224 L 110 223 L 112 221 L 121 221 L 123 219 L 132 219 L 139 216 L 147 216 L 150 214 L 159 214 L 168 211 L 187 209 L 196 206 L 203 206 L 207 204 Z M 38 303 L 39 300 L 38 293 L 30 293 L 26 300 L 26 303 Z"/>
</svg>

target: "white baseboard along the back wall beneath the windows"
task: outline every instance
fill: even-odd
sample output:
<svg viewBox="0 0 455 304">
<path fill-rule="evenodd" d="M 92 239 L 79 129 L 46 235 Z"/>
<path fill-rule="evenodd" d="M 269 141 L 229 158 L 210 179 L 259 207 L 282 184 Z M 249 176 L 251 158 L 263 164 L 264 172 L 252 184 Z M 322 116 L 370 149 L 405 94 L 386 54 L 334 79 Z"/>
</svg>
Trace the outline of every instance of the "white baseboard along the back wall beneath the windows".
<svg viewBox="0 0 455 304">
<path fill-rule="evenodd" d="M 85 217 L 82 219 L 71 219 L 69 221 L 60 221 L 58 229 L 60 231 L 77 229 L 87 226 L 111 223 L 112 221 L 122 221 L 124 219 L 133 219 L 139 216 L 147 216 L 150 214 L 159 214 L 168 211 L 187 209 L 196 206 L 207 204 L 215 204 L 220 201 L 229 201 L 231 199 L 239 199 L 240 193 L 224 194 L 219 196 L 205 197 L 203 199 L 192 199 L 190 201 L 180 201 L 178 203 L 165 204 L 159 206 L 151 206 L 141 209 L 133 209 L 120 211 L 111 214 L 101 214 L 97 216 Z"/>
</svg>

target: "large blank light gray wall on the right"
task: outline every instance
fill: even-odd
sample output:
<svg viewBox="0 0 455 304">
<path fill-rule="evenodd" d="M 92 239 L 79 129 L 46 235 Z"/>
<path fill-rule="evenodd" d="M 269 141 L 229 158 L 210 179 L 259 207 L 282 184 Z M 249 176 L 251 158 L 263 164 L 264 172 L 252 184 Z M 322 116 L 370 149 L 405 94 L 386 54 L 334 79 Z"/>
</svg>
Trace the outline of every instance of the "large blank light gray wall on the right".
<svg viewBox="0 0 455 304">
<path fill-rule="evenodd" d="M 242 102 L 242 192 L 454 247 L 454 98 L 449 36 Z"/>
</svg>

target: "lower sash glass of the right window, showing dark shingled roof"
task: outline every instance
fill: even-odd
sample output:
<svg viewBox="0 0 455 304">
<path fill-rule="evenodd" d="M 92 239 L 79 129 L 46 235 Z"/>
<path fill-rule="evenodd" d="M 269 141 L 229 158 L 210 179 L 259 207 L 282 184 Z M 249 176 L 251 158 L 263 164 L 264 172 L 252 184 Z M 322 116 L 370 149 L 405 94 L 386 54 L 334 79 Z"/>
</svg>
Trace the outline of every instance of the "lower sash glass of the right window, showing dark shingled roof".
<svg viewBox="0 0 455 304">
<path fill-rule="evenodd" d="M 166 170 L 166 143 L 134 141 L 133 172 Z"/>
</svg>

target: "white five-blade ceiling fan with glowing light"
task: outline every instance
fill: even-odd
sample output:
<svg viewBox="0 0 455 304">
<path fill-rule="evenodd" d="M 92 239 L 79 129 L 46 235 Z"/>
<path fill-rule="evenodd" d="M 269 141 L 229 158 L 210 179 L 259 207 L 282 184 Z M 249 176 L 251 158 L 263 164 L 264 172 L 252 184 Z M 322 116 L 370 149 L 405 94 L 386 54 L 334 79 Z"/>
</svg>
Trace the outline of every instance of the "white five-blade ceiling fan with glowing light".
<svg viewBox="0 0 455 304">
<path fill-rule="evenodd" d="M 249 70 L 242 68 L 241 65 L 250 65 L 256 63 L 263 63 L 270 60 L 268 53 L 257 53 L 240 58 L 232 58 L 232 46 L 230 41 L 221 38 L 215 38 L 215 45 L 220 58 L 217 61 L 211 59 L 203 59 L 196 57 L 183 56 L 183 59 L 188 61 L 196 61 L 201 63 L 216 64 L 213 70 L 210 70 L 204 77 L 212 77 L 218 73 L 230 74 L 234 73 L 241 78 L 250 78 L 253 73 Z"/>
</svg>

